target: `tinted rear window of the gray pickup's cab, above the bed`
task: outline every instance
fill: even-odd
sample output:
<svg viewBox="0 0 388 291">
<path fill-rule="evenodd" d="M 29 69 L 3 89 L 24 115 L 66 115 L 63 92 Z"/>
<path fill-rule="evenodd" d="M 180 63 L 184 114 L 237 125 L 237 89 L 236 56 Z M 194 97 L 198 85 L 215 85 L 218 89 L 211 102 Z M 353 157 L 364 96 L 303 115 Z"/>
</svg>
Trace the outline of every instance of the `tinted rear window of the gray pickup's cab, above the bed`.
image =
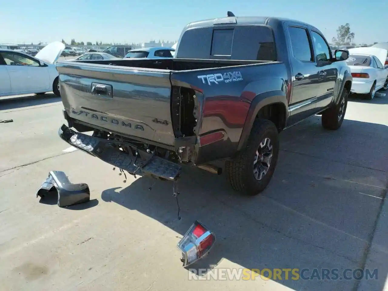
<svg viewBox="0 0 388 291">
<path fill-rule="evenodd" d="M 249 37 L 246 37 L 249 35 Z M 194 45 L 195 44 L 195 45 Z M 187 29 L 180 39 L 177 58 L 276 61 L 272 29 L 265 25 L 234 28 Z"/>
</svg>

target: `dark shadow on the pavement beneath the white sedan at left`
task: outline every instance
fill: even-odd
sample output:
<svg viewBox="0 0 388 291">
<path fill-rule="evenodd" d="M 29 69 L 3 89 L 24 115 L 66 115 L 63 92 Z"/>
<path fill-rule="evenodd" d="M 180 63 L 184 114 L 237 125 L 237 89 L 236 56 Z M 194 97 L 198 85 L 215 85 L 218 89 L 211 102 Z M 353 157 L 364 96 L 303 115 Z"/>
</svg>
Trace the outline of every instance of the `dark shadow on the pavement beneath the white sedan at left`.
<svg viewBox="0 0 388 291">
<path fill-rule="evenodd" d="M 46 93 L 43 95 L 28 94 L 20 95 L 20 97 L 0 97 L 0 110 L 11 110 L 55 102 L 61 102 L 61 98 L 54 93 Z"/>
</svg>

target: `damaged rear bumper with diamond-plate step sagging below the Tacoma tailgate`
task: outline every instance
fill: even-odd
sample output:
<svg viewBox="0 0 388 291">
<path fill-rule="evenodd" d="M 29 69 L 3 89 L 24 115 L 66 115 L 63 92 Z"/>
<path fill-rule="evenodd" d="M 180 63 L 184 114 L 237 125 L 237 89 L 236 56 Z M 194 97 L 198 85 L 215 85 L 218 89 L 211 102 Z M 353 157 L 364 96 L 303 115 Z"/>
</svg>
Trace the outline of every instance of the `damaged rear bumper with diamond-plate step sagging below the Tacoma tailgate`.
<svg viewBox="0 0 388 291">
<path fill-rule="evenodd" d="M 66 125 L 59 128 L 58 134 L 68 144 L 132 175 L 143 173 L 174 181 L 182 169 L 176 163 L 146 152 L 142 152 L 141 157 L 136 159 L 132 154 L 115 148 L 118 145 L 117 142 L 75 132 Z"/>
</svg>

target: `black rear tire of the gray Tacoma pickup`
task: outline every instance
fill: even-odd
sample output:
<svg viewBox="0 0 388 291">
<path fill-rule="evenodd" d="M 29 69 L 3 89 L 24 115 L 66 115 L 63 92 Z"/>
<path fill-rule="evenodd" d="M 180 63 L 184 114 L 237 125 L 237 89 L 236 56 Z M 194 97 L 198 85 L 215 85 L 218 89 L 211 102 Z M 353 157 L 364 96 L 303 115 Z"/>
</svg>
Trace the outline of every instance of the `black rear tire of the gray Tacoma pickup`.
<svg viewBox="0 0 388 291">
<path fill-rule="evenodd" d="M 272 145 L 272 158 L 267 172 L 258 180 L 254 174 L 256 151 L 258 151 L 260 144 L 268 139 Z M 234 159 L 225 162 L 225 171 L 230 185 L 234 190 L 250 196 L 261 193 L 268 186 L 274 174 L 278 157 L 279 133 L 276 126 L 269 120 L 255 120 L 246 148 L 239 152 Z M 260 164 L 258 164 L 259 162 Z M 257 161 L 256 165 L 263 165 L 263 162 Z"/>
</svg>

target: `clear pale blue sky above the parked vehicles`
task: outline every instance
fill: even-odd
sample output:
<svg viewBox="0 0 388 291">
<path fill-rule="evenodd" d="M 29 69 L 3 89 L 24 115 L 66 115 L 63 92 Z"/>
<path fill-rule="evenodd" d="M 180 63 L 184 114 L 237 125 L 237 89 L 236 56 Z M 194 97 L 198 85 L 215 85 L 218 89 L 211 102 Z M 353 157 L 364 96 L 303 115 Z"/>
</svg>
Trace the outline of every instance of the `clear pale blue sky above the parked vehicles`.
<svg viewBox="0 0 388 291">
<path fill-rule="evenodd" d="M 2 4 L 0 43 L 177 40 L 185 24 L 226 16 L 228 10 L 305 21 L 329 41 L 338 26 L 349 23 L 355 43 L 388 42 L 387 0 L 16 0 Z"/>
</svg>

